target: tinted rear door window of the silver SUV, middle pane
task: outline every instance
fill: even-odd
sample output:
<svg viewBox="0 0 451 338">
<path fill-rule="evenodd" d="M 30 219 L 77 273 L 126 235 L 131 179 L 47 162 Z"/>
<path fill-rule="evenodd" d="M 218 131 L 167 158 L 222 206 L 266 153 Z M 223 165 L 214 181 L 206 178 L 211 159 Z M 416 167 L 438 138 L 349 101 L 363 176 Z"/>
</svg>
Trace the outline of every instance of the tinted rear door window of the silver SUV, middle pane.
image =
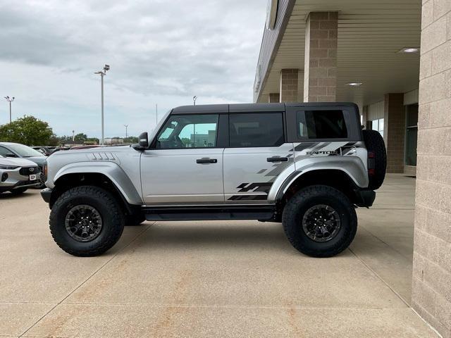
<svg viewBox="0 0 451 338">
<path fill-rule="evenodd" d="M 280 146 L 283 144 L 282 113 L 241 113 L 229 115 L 231 147 Z"/>
</svg>

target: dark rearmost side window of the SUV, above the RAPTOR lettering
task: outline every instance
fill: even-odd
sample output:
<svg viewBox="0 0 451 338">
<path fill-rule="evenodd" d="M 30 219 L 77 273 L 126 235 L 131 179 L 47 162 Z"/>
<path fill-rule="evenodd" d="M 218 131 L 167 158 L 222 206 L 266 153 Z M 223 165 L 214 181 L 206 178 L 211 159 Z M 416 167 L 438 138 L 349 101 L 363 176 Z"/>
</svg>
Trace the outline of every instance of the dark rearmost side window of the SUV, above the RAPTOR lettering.
<svg viewBox="0 0 451 338">
<path fill-rule="evenodd" d="M 301 139 L 345 139 L 347 128 L 343 111 L 298 111 L 297 137 Z"/>
</svg>

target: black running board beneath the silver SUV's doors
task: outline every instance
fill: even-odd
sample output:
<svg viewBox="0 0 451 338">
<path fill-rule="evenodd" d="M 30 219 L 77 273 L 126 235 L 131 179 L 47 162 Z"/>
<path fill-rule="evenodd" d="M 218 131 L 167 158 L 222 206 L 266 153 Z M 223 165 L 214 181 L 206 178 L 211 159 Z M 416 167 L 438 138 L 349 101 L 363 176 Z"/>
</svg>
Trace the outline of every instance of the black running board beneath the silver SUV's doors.
<svg viewBox="0 0 451 338">
<path fill-rule="evenodd" d="M 271 220 L 274 206 L 144 207 L 146 220 Z"/>
</svg>

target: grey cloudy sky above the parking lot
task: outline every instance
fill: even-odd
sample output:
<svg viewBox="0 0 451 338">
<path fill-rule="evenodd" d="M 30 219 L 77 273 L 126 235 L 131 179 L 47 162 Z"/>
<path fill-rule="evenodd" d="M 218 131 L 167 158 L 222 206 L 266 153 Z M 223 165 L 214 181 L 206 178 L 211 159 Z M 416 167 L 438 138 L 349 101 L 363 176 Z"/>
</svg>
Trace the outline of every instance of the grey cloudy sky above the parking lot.
<svg viewBox="0 0 451 338">
<path fill-rule="evenodd" d="M 174 106 L 252 102 L 266 0 L 0 0 L 0 95 L 58 135 L 152 130 Z M 0 125 L 8 121 L 5 99 Z"/>
</svg>

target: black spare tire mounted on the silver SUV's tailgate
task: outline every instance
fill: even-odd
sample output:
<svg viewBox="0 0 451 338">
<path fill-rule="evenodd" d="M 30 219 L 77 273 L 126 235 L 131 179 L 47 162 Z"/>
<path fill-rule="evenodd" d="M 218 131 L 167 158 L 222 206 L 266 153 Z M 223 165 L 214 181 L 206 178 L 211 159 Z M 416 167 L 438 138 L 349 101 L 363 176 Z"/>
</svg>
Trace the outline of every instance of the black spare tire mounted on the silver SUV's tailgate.
<svg viewBox="0 0 451 338">
<path fill-rule="evenodd" d="M 387 170 L 387 151 L 383 137 L 376 130 L 363 130 L 364 142 L 368 151 L 369 189 L 381 187 Z"/>
</svg>

